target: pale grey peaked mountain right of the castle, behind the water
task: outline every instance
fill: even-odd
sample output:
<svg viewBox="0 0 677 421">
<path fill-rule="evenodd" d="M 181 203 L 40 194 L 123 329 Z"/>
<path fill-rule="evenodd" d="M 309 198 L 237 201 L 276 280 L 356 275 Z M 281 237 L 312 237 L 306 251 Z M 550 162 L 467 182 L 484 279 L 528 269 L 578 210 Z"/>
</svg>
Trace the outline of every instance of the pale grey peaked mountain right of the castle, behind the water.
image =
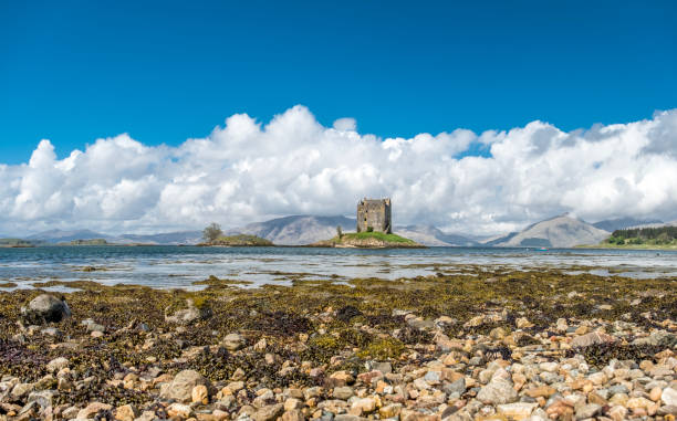
<svg viewBox="0 0 677 421">
<path fill-rule="evenodd" d="M 608 231 L 600 230 L 569 215 L 560 215 L 527 227 L 523 231 L 496 240 L 496 246 L 550 246 L 572 248 L 597 244 L 608 238 Z"/>
</svg>

